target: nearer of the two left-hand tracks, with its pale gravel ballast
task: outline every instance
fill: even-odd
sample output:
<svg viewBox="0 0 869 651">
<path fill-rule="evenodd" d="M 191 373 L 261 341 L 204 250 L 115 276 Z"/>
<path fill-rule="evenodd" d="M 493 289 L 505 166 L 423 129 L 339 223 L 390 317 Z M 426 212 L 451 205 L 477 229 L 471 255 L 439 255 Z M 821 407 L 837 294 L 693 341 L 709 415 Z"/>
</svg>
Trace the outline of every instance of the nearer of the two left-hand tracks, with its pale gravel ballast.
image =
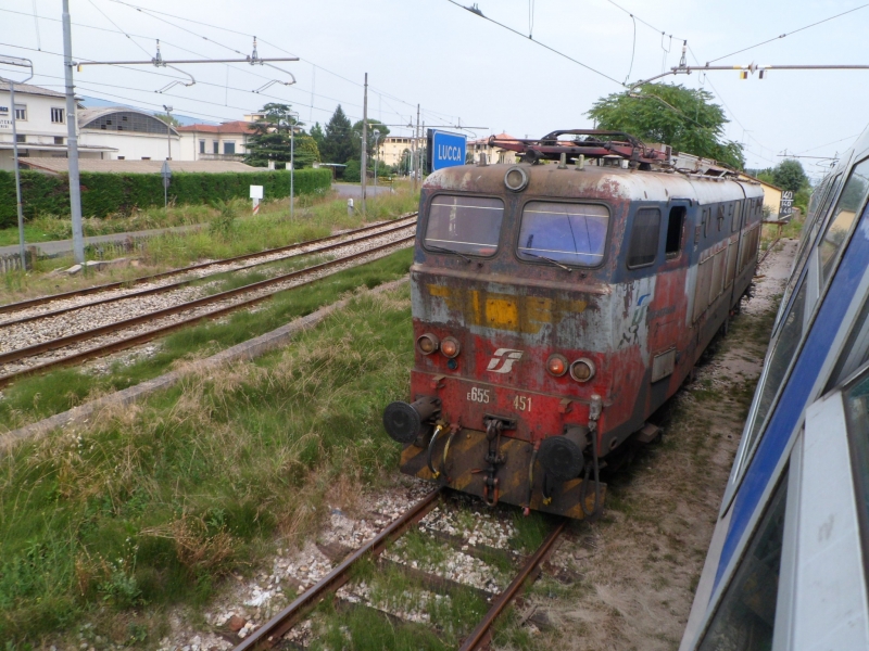
<svg viewBox="0 0 869 651">
<path fill-rule="evenodd" d="M 325 263 L 278 273 L 265 280 L 211 295 L 202 295 L 202 288 L 194 288 L 191 284 L 202 280 L 201 278 L 185 279 L 121 295 L 112 294 L 79 305 L 55 306 L 54 309 L 42 314 L 18 316 L 0 322 L 0 341 L 5 344 L 0 344 L 5 348 L 5 350 L 0 348 L 0 386 L 52 367 L 78 363 L 139 345 L 179 328 L 253 306 L 279 292 L 310 284 L 351 266 L 382 257 L 410 244 L 414 238 L 414 227 L 415 215 L 412 215 L 400 220 L 398 226 L 394 222 L 381 224 L 378 227 L 366 227 L 350 233 L 284 247 L 279 257 L 274 257 L 274 252 L 277 250 L 267 252 L 265 260 L 255 259 L 264 257 L 263 254 L 241 256 L 254 261 L 237 266 L 232 271 L 249 271 L 254 267 L 275 261 L 282 263 L 300 256 L 336 255 L 333 259 Z M 356 237 L 348 239 L 348 234 Z M 344 239 L 331 244 L 326 243 L 339 237 Z M 292 253 L 291 250 L 297 251 Z M 237 264 L 238 259 L 232 258 L 232 261 Z M 218 260 L 207 265 L 225 266 L 227 260 Z M 184 270 L 178 271 L 184 272 Z M 114 284 L 112 283 L 112 286 Z M 67 295 L 61 296 L 64 299 L 68 298 Z M 161 296 L 163 298 L 155 303 L 154 297 Z M 166 296 L 172 297 L 168 301 L 169 305 L 166 305 Z M 42 303 L 45 304 L 46 302 Z M 70 322 L 76 315 L 79 327 L 73 328 L 74 331 L 70 332 Z M 95 322 L 98 323 L 96 327 Z M 21 342 L 23 336 L 27 337 L 25 344 L 16 343 L 16 337 L 17 342 Z"/>
</svg>

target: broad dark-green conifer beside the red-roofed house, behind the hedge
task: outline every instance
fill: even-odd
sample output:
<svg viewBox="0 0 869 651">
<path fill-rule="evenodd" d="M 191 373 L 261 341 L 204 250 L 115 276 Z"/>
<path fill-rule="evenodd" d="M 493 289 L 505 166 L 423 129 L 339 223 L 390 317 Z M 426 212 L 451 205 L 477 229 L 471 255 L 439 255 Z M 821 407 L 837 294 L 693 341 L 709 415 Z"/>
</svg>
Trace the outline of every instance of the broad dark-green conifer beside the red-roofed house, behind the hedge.
<svg viewBox="0 0 869 651">
<path fill-rule="evenodd" d="M 254 167 L 266 167 L 268 161 L 285 167 L 292 157 L 297 169 L 319 161 L 319 151 L 311 136 L 300 129 L 300 123 L 293 115 L 289 104 L 266 104 L 261 110 L 265 117 L 251 124 L 253 136 L 248 140 L 244 162 Z M 290 129 L 295 129 L 295 142 Z M 294 145 L 294 155 L 291 150 Z"/>
</svg>

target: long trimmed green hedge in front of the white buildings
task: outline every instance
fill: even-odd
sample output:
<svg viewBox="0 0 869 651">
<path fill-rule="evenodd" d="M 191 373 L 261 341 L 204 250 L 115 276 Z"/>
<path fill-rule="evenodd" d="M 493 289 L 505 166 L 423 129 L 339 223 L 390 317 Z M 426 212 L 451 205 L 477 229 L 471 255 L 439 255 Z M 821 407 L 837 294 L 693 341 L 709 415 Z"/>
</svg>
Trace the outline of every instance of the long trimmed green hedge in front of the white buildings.
<svg viewBox="0 0 869 651">
<path fill-rule="evenodd" d="M 81 180 L 81 214 L 105 217 L 113 213 L 128 214 L 134 208 L 163 205 L 163 179 L 159 174 L 104 174 L 85 171 Z M 332 180 L 329 169 L 297 169 L 295 194 L 328 190 Z M 22 171 L 24 217 L 70 214 L 70 182 L 66 175 Z M 250 186 L 263 186 L 265 199 L 290 194 L 289 171 L 250 171 L 222 174 L 173 173 L 169 199 L 176 204 L 201 204 L 216 200 L 250 196 Z M 0 170 L 0 228 L 17 222 L 15 212 L 15 175 Z"/>
</svg>

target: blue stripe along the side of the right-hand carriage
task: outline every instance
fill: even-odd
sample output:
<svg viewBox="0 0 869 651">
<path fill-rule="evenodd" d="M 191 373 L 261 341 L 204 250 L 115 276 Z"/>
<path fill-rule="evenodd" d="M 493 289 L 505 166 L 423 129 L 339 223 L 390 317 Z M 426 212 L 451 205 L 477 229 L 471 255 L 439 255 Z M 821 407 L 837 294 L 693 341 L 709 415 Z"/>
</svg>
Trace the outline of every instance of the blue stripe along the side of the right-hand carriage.
<svg viewBox="0 0 869 651">
<path fill-rule="evenodd" d="M 868 215 L 869 207 L 864 210 L 860 217 L 854 238 L 845 251 L 832 285 L 823 297 L 823 303 L 815 323 L 811 326 L 808 339 L 790 378 L 786 380 L 786 385 L 776 404 L 769 425 L 763 434 L 760 444 L 757 446 L 754 458 L 736 493 L 736 498 L 733 502 L 733 514 L 730 519 L 730 528 L 718 560 L 718 571 L 716 572 L 713 592 L 718 588 L 718 583 L 721 580 L 731 557 L 736 551 L 752 514 L 758 508 L 766 506 L 759 503 L 760 497 L 770 478 L 772 478 L 776 465 L 784 452 L 796 423 L 808 407 L 806 400 L 809 397 L 811 387 L 818 378 L 842 319 L 864 277 L 867 261 L 869 261 Z"/>
</svg>

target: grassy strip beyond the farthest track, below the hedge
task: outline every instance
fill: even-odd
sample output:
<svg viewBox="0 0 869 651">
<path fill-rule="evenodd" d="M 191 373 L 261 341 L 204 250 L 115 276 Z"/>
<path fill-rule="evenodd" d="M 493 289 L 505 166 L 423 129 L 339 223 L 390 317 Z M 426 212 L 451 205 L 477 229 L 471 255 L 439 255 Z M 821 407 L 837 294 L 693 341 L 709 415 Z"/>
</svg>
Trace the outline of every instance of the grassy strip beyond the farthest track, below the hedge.
<svg viewBox="0 0 869 651">
<path fill-rule="evenodd" d="M 77 276 L 65 273 L 49 276 L 48 272 L 53 269 L 67 268 L 74 264 L 72 257 L 60 257 L 39 260 L 34 271 L 3 273 L 0 283 L 0 304 L 130 280 L 186 267 L 203 259 L 227 258 L 323 238 L 337 229 L 356 228 L 367 221 L 392 219 L 400 214 L 415 210 L 418 203 L 418 193 L 414 194 L 408 184 L 398 184 L 394 193 L 368 200 L 367 216 L 358 212 L 352 216 L 348 215 L 347 200 L 337 199 L 335 193 L 329 193 L 324 196 L 297 197 L 295 216 L 292 220 L 289 218 L 289 200 L 286 199 L 263 203 L 260 214 L 255 216 L 249 214 L 248 202 L 236 200 L 222 206 L 169 206 L 168 209 L 141 210 L 133 217 L 88 219 L 86 221 L 91 224 L 85 229 L 86 235 L 175 226 L 192 228 L 149 238 L 141 251 L 129 254 L 129 257 L 138 259 L 139 267 L 117 267 Z M 46 231 L 45 239 L 48 240 L 71 237 L 70 222 L 53 217 L 34 220 L 28 228 Z M 3 243 L 3 237 L 7 239 L 11 237 L 9 233 L 5 235 L 3 233 L 7 231 L 0 231 L 0 244 Z M 17 231 L 14 235 L 14 242 L 9 243 L 17 242 Z M 99 257 L 93 247 L 89 247 L 86 253 L 88 259 Z"/>
</svg>

